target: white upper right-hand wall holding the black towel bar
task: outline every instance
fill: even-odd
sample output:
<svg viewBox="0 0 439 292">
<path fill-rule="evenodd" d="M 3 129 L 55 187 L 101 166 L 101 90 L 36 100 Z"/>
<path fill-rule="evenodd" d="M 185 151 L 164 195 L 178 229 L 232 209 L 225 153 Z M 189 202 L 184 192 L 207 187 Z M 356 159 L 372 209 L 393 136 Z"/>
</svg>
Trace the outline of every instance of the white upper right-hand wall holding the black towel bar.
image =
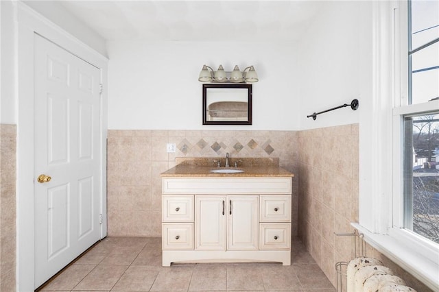
<svg viewBox="0 0 439 292">
<path fill-rule="evenodd" d="M 368 99 L 364 82 L 370 79 L 370 34 L 362 23 L 370 18 L 368 3 L 340 1 L 328 3 L 319 17 L 305 30 L 298 50 L 300 65 L 300 130 L 359 122 L 361 105 Z M 368 68 L 364 68 L 364 66 Z M 359 109 L 342 108 L 307 118 L 359 99 Z"/>
</svg>

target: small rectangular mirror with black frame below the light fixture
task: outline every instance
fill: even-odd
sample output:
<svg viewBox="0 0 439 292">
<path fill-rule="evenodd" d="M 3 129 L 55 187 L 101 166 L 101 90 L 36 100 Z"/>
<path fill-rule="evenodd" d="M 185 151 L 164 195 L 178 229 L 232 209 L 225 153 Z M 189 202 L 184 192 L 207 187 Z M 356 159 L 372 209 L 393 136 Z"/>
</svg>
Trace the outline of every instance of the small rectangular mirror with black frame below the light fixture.
<svg viewBox="0 0 439 292">
<path fill-rule="evenodd" d="M 203 125 L 251 125 L 252 84 L 203 84 Z"/>
</svg>

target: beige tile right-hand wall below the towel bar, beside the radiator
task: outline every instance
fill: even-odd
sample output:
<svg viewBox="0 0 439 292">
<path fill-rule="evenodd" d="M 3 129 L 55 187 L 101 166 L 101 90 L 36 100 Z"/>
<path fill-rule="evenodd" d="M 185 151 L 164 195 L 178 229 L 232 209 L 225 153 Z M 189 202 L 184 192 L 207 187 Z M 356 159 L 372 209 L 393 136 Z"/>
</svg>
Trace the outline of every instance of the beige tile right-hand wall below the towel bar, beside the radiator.
<svg viewBox="0 0 439 292">
<path fill-rule="evenodd" d="M 335 263 L 355 257 L 351 222 L 358 222 L 359 126 L 342 125 L 298 132 L 298 235 L 336 286 Z M 431 291 L 391 260 L 368 246 L 416 291 Z"/>
</svg>

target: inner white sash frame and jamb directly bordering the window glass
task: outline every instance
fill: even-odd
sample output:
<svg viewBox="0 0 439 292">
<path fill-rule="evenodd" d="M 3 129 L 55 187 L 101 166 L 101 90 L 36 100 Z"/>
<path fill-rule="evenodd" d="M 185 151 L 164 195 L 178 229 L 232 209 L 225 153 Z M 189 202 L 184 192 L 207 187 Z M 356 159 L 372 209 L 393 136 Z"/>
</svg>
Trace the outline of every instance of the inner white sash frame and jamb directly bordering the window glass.
<svg viewBox="0 0 439 292">
<path fill-rule="evenodd" d="M 389 224 L 389 233 L 394 236 L 402 236 L 407 242 L 413 241 L 425 256 L 435 256 L 439 259 L 439 244 L 431 243 L 423 236 L 405 229 L 404 217 L 404 186 L 403 186 L 403 145 L 404 145 L 404 117 L 408 115 L 427 114 L 439 110 L 439 101 L 427 101 L 421 104 L 410 104 L 410 88 L 412 82 L 412 64 L 409 62 L 412 55 L 409 53 L 411 47 L 410 25 L 411 13 L 410 1 L 402 1 L 394 5 L 394 107 L 393 114 L 393 202 L 392 202 L 392 223 Z M 397 78 L 399 76 L 399 78 Z M 403 229 L 404 231 L 401 231 Z"/>
</svg>

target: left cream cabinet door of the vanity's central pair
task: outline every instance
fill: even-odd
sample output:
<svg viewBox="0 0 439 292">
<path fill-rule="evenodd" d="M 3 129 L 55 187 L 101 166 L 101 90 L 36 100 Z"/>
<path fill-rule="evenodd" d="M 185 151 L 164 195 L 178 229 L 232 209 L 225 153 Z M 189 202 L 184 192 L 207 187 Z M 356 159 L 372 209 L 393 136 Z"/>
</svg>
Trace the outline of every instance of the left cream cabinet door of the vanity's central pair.
<svg viewBox="0 0 439 292">
<path fill-rule="evenodd" d="M 226 250 L 226 196 L 195 196 L 195 250 Z"/>
</svg>

